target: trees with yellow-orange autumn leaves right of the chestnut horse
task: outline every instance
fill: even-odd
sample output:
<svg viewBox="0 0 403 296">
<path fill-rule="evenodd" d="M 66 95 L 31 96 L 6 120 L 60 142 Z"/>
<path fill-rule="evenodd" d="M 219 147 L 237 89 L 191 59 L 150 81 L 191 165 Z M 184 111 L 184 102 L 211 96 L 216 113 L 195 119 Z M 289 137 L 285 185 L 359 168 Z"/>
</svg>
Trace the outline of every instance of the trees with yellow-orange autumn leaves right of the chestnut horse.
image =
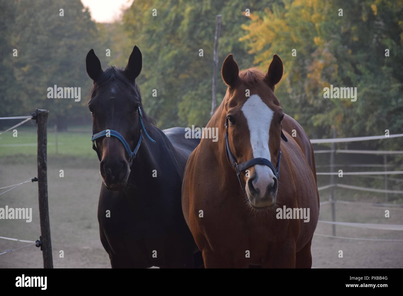
<svg viewBox="0 0 403 296">
<path fill-rule="evenodd" d="M 332 137 L 331 126 L 346 137 L 395 134 L 403 120 L 402 17 L 402 1 L 284 0 L 252 15 L 242 40 L 260 66 L 274 53 L 283 59 L 286 79 L 276 95 L 311 137 Z M 357 87 L 357 101 L 324 99 L 330 84 Z"/>
</svg>

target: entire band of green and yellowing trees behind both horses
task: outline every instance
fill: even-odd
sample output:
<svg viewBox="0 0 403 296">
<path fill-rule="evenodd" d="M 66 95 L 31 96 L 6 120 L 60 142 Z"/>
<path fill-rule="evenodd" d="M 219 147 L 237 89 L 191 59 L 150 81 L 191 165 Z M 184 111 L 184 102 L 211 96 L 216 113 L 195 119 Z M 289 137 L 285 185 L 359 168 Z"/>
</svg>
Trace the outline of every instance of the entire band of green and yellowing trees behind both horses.
<svg viewBox="0 0 403 296">
<path fill-rule="evenodd" d="M 158 126 L 205 126 L 216 15 L 222 14 L 219 68 L 232 53 L 241 69 L 266 71 L 278 54 L 285 75 L 276 96 L 311 138 L 332 137 L 332 126 L 340 137 L 401 132 L 402 0 L 136 0 L 123 20 L 113 24 L 94 23 L 79 0 L 0 0 L 0 10 L 6 11 L 0 18 L 1 116 L 29 114 L 39 107 L 50 110 L 52 124 L 56 119 L 60 124 L 88 123 L 87 52 L 93 48 L 103 68 L 125 66 L 137 45 L 143 53 L 137 83 Z M 13 48 L 18 57 L 12 56 Z M 220 73 L 217 82 L 220 103 L 226 91 Z M 81 87 L 81 102 L 47 99 L 47 88 L 54 84 Z M 323 88 L 330 84 L 357 87 L 357 101 L 324 99 Z M 396 147 L 388 148 L 400 149 L 401 140 L 393 143 Z"/>
</svg>

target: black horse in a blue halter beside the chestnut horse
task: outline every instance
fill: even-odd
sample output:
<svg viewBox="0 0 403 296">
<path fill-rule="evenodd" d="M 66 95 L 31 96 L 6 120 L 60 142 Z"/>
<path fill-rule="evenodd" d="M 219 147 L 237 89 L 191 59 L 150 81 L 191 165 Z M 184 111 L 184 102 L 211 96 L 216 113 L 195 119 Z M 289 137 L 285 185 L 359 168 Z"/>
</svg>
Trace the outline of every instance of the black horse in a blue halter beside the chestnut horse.
<svg viewBox="0 0 403 296">
<path fill-rule="evenodd" d="M 93 50 L 86 66 L 103 181 L 100 237 L 112 267 L 193 267 L 197 248 L 183 218 L 181 186 L 199 139 L 185 139 L 185 128 L 160 130 L 145 114 L 135 83 L 142 67 L 137 46 L 125 69 L 102 70 Z"/>
</svg>

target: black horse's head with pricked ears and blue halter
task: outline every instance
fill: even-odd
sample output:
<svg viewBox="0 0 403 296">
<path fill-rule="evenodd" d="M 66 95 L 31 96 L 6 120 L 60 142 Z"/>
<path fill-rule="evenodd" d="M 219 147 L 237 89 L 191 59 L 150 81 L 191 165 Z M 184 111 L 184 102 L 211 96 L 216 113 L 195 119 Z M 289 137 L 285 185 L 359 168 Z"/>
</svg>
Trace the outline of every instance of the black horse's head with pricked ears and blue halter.
<svg viewBox="0 0 403 296">
<path fill-rule="evenodd" d="M 133 48 L 125 69 L 110 66 L 103 71 L 93 50 L 86 58 L 87 73 L 93 80 L 88 101 L 93 135 L 103 132 L 99 137 L 93 137 L 93 147 L 101 161 L 100 175 L 110 190 L 125 187 L 130 174 L 131 151 L 140 137 L 139 108 L 143 106 L 135 79 L 140 74 L 141 65 L 142 56 L 137 46 Z M 143 120 L 148 120 L 145 114 L 142 115 Z"/>
</svg>

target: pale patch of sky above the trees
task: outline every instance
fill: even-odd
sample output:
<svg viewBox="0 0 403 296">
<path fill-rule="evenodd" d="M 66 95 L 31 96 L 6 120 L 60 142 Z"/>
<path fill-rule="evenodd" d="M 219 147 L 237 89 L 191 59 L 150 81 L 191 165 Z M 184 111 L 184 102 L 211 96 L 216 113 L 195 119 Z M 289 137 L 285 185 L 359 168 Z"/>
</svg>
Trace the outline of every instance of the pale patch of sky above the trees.
<svg viewBox="0 0 403 296">
<path fill-rule="evenodd" d="M 133 0 L 81 0 L 89 7 L 91 18 L 98 23 L 112 23 L 121 16 L 122 7 L 127 8 Z"/>
</svg>

